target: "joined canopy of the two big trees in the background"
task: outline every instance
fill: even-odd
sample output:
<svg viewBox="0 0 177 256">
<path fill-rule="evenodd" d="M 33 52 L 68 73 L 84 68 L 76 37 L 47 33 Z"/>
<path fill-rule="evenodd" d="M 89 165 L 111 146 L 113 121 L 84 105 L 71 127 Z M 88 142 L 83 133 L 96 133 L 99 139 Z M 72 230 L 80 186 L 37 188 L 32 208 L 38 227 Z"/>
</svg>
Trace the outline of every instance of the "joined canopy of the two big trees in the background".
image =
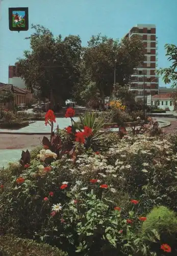
<svg viewBox="0 0 177 256">
<path fill-rule="evenodd" d="M 100 34 L 92 36 L 86 47 L 79 36 L 54 37 L 50 30 L 32 25 L 31 50 L 16 63 L 18 74 L 27 88 L 37 91 L 41 98 L 82 101 L 110 96 L 114 83 L 125 84 L 133 69 L 144 60 L 143 42 L 138 37 L 123 38 L 120 42 Z"/>
</svg>

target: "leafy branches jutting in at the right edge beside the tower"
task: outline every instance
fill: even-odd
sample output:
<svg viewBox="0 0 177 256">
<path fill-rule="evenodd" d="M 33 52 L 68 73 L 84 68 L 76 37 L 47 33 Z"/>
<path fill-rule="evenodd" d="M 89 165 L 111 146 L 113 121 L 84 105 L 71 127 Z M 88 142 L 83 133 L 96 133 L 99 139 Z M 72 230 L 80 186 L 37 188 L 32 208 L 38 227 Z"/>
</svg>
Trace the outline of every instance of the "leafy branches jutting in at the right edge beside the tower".
<svg viewBox="0 0 177 256">
<path fill-rule="evenodd" d="M 166 44 L 165 49 L 167 51 L 166 56 L 169 61 L 172 61 L 172 65 L 169 68 L 162 69 L 160 68 L 157 71 L 158 75 L 162 76 L 162 79 L 165 83 L 172 82 L 172 88 L 177 87 L 177 46 Z"/>
</svg>

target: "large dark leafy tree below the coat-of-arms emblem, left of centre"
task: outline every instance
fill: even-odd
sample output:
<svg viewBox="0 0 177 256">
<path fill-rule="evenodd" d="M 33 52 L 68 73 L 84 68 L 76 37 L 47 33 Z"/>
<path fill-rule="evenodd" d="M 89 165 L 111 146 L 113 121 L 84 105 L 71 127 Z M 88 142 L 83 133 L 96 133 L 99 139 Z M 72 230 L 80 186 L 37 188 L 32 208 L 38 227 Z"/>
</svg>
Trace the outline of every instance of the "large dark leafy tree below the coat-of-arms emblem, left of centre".
<svg viewBox="0 0 177 256">
<path fill-rule="evenodd" d="M 18 59 L 18 74 L 28 89 L 59 103 L 70 98 L 79 81 L 81 39 L 74 35 L 54 37 L 40 25 L 32 25 L 32 29 L 35 32 L 26 38 L 30 39 L 31 50 L 24 51 L 24 57 Z"/>
</svg>

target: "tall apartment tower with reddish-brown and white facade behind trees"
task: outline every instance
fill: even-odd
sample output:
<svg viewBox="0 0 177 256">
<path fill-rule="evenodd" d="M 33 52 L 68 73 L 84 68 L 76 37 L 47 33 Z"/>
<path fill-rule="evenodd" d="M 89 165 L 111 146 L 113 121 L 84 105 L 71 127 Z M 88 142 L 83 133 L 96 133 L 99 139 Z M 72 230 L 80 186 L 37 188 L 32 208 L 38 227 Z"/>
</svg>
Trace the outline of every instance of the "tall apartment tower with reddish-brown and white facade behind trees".
<svg viewBox="0 0 177 256">
<path fill-rule="evenodd" d="M 157 67 L 157 37 L 156 25 L 153 24 L 137 24 L 133 27 L 125 37 L 132 37 L 138 35 L 144 44 L 145 59 L 142 65 L 134 69 L 132 75 L 132 84 L 130 90 L 135 93 L 136 99 L 143 99 L 143 92 L 145 95 L 145 102 L 147 95 L 158 94 L 159 79 L 156 75 Z M 145 75 L 145 86 L 143 87 L 143 77 Z"/>
</svg>

